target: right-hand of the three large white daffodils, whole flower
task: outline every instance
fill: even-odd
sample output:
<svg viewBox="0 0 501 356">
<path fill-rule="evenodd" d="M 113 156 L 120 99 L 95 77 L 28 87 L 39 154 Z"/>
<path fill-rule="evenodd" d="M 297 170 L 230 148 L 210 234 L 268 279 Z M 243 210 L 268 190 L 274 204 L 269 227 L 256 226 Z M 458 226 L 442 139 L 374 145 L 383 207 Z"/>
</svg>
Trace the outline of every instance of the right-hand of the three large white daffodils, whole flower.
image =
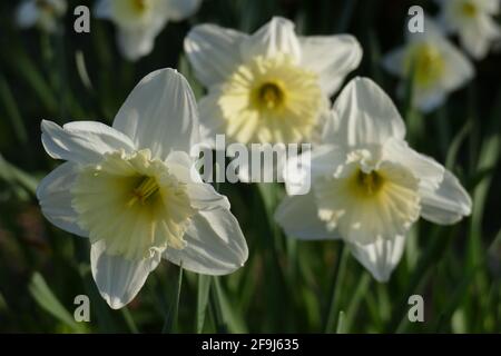
<svg viewBox="0 0 501 356">
<path fill-rule="evenodd" d="M 301 185 L 305 169 L 312 190 L 285 197 L 277 222 L 289 237 L 343 239 L 374 278 L 387 280 L 420 216 L 448 225 L 471 211 L 458 179 L 411 149 L 404 137 L 404 122 L 386 93 L 370 79 L 352 80 L 334 103 L 311 165 L 288 172 L 287 191 Z"/>
</svg>

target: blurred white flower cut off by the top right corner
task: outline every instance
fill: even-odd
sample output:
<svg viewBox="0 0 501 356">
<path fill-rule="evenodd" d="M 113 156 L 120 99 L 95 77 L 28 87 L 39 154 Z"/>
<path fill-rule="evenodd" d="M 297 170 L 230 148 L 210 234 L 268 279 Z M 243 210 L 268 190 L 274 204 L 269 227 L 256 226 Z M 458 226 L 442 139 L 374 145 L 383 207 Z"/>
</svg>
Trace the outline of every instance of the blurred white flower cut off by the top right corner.
<svg viewBox="0 0 501 356">
<path fill-rule="evenodd" d="M 458 33 L 461 46 L 475 59 L 484 58 L 491 44 L 501 39 L 501 28 L 493 16 L 500 0 L 436 0 L 441 6 L 440 23 Z"/>
</svg>

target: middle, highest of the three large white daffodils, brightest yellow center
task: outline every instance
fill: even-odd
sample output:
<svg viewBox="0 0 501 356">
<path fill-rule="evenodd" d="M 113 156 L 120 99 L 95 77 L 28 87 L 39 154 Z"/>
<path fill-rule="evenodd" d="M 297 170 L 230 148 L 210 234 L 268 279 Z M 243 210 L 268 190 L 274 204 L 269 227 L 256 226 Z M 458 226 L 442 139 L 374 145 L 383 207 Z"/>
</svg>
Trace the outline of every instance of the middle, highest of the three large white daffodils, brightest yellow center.
<svg viewBox="0 0 501 356">
<path fill-rule="evenodd" d="M 278 17 L 250 36 L 197 26 L 185 51 L 208 88 L 200 125 L 213 145 L 217 134 L 239 144 L 310 141 L 328 97 L 362 58 L 353 36 L 298 37 Z"/>
</svg>

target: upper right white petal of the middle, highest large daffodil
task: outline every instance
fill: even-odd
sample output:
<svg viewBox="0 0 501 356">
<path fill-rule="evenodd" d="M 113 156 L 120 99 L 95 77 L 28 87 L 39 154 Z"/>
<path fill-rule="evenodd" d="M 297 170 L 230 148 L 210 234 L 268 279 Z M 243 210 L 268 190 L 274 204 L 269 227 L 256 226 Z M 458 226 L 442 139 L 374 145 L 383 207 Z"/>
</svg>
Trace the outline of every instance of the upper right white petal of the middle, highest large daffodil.
<svg viewBox="0 0 501 356">
<path fill-rule="evenodd" d="M 333 95 L 346 75 L 358 67 L 362 47 L 350 34 L 301 37 L 302 63 L 320 75 L 322 89 Z"/>
</svg>

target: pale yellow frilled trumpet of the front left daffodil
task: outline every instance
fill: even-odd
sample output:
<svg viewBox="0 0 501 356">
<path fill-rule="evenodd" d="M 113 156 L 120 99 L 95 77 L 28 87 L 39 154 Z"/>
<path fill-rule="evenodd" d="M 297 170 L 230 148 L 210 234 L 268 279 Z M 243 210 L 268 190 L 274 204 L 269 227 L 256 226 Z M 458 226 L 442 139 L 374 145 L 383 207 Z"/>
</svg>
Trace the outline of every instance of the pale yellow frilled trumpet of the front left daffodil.
<svg viewBox="0 0 501 356">
<path fill-rule="evenodd" d="M 184 248 L 195 209 L 186 184 L 149 150 L 105 154 L 84 167 L 71 189 L 78 225 L 107 254 L 128 259 L 150 257 L 165 248 Z"/>
</svg>

